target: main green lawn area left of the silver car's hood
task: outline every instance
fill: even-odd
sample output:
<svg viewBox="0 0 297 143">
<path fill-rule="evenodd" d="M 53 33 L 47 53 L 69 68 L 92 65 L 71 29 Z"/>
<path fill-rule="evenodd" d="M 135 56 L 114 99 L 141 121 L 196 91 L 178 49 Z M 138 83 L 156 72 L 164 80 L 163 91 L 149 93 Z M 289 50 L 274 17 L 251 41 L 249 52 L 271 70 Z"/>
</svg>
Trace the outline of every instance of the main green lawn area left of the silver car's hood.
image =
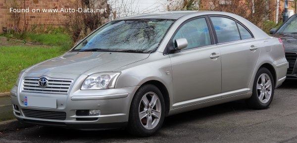
<svg viewBox="0 0 297 143">
<path fill-rule="evenodd" d="M 69 47 L 68 47 L 69 49 Z M 10 91 L 18 73 L 34 64 L 57 57 L 67 49 L 63 47 L 0 47 L 0 92 Z"/>
</svg>

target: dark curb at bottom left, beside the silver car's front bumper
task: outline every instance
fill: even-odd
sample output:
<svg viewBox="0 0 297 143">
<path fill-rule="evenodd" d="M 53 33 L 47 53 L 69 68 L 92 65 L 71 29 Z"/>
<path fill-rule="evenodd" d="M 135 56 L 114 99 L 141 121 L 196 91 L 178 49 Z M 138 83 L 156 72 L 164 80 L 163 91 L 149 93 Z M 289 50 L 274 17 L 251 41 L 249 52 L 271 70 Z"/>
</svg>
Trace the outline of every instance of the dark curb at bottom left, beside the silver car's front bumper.
<svg viewBox="0 0 297 143">
<path fill-rule="evenodd" d="M 14 130 L 18 128 L 26 128 L 32 125 L 22 124 L 17 119 L 7 120 L 0 122 L 0 132 L 5 132 L 8 130 Z"/>
</svg>

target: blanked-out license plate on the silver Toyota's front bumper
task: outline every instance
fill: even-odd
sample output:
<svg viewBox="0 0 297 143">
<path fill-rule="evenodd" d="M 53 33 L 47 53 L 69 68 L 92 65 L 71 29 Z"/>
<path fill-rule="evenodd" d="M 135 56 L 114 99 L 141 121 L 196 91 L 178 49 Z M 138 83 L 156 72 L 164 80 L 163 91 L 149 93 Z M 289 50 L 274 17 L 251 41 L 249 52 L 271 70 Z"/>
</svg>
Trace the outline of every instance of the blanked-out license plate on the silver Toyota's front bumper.
<svg viewBox="0 0 297 143">
<path fill-rule="evenodd" d="M 25 96 L 25 106 L 57 108 L 57 99 Z"/>
</svg>

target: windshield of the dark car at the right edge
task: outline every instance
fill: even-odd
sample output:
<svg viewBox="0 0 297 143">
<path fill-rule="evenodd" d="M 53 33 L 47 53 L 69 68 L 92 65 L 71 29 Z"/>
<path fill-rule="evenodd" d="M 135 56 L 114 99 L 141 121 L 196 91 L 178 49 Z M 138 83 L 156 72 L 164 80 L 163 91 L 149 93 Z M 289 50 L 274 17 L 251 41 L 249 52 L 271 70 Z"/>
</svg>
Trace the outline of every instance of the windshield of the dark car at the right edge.
<svg viewBox="0 0 297 143">
<path fill-rule="evenodd" d="M 292 16 L 277 33 L 297 33 L 297 15 Z"/>
</svg>

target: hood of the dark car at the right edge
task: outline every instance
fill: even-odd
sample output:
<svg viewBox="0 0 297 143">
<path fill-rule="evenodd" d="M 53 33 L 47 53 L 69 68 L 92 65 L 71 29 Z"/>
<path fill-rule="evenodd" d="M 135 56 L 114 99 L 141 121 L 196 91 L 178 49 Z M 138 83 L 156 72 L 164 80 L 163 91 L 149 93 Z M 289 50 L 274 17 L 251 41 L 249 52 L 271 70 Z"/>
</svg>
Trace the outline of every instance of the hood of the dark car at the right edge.
<svg viewBox="0 0 297 143">
<path fill-rule="evenodd" d="M 286 52 L 297 52 L 297 34 L 276 34 L 273 36 L 282 39 Z"/>
</svg>

